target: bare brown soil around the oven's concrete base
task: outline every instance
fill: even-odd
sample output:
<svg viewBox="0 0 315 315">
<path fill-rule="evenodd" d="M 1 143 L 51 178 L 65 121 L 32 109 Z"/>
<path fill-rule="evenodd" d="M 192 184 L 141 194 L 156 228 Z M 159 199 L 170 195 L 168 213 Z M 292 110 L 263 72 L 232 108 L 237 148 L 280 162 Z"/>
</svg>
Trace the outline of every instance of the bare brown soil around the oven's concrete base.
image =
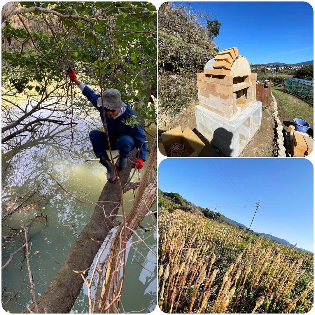
<svg viewBox="0 0 315 315">
<path fill-rule="evenodd" d="M 194 113 L 195 103 L 186 107 L 176 117 L 172 118 L 167 113 L 159 113 L 159 135 L 169 129 L 180 126 L 182 130 L 189 127 L 206 144 L 199 156 L 203 157 L 221 157 L 225 156 L 216 146 L 212 145 L 196 129 L 196 119 Z M 160 139 L 161 140 L 161 139 Z M 275 142 L 275 121 L 273 117 L 273 106 L 263 108 L 261 126 L 244 148 L 241 157 L 271 157 L 276 150 Z"/>
</svg>

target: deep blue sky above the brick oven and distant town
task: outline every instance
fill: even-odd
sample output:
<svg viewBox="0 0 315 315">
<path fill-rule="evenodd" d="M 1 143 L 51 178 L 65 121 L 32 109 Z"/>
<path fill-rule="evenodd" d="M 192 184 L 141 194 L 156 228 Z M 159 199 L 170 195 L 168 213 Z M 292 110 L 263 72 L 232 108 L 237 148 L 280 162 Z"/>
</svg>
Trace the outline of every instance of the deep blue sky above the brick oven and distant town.
<svg viewBox="0 0 315 315">
<path fill-rule="evenodd" d="M 183 2 L 181 2 L 183 3 Z M 249 63 L 313 60 L 313 9 L 306 2 L 191 2 L 222 24 L 220 50 L 237 46 Z M 205 21 L 203 21 L 205 23 Z"/>
</svg>

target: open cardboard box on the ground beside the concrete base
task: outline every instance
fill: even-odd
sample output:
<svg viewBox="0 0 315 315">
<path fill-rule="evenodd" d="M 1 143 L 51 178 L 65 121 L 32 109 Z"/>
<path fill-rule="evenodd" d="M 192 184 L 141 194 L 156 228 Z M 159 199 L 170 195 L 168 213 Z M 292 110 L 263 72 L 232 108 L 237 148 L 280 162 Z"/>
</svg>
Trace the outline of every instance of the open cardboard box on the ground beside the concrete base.
<svg viewBox="0 0 315 315">
<path fill-rule="evenodd" d="M 197 157 L 205 146 L 205 144 L 189 127 L 182 132 L 180 126 L 178 126 L 163 132 L 161 137 L 162 142 L 159 142 L 158 148 L 165 156 L 167 156 L 166 151 L 168 151 L 175 142 L 182 142 L 189 154 L 188 156 L 190 157 Z"/>
</svg>

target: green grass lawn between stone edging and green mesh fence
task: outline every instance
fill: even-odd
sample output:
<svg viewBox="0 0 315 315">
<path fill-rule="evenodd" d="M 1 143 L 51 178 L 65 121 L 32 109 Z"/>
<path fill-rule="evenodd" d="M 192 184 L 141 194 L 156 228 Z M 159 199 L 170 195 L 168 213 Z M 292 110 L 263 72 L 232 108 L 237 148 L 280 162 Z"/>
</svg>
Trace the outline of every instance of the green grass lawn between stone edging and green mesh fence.
<svg viewBox="0 0 315 315">
<path fill-rule="evenodd" d="M 286 93 L 282 87 L 271 86 L 271 92 L 278 103 L 280 120 L 292 121 L 293 118 L 300 118 L 307 121 L 313 129 L 313 106 L 303 100 Z"/>
</svg>

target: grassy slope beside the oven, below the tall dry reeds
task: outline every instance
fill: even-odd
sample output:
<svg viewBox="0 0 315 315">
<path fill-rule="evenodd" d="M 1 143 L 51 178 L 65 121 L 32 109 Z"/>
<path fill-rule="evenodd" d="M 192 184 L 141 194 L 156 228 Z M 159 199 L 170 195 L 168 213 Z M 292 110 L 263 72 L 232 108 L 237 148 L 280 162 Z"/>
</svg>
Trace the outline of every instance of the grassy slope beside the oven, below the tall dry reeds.
<svg viewBox="0 0 315 315">
<path fill-rule="evenodd" d="M 170 117 L 198 99 L 196 73 L 216 55 L 174 35 L 159 30 L 159 114 Z"/>
</svg>

